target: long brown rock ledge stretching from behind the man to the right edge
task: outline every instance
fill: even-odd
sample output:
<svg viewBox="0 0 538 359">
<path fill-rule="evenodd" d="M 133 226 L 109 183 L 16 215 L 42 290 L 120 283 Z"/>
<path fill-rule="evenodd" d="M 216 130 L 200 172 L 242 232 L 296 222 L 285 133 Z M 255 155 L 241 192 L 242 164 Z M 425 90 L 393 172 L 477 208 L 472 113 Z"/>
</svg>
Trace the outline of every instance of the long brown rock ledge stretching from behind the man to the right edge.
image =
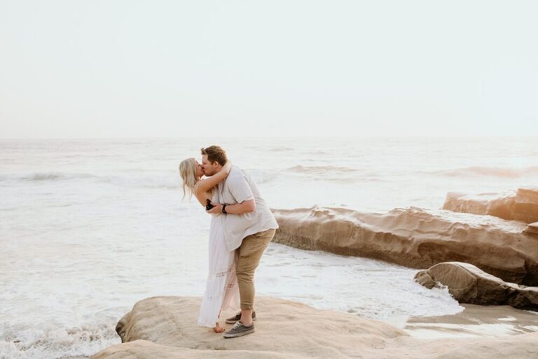
<svg viewBox="0 0 538 359">
<path fill-rule="evenodd" d="M 506 282 L 538 285 L 538 241 L 526 224 L 420 208 L 364 213 L 343 208 L 273 210 L 275 243 L 380 259 L 415 269 L 465 262 Z"/>
</svg>

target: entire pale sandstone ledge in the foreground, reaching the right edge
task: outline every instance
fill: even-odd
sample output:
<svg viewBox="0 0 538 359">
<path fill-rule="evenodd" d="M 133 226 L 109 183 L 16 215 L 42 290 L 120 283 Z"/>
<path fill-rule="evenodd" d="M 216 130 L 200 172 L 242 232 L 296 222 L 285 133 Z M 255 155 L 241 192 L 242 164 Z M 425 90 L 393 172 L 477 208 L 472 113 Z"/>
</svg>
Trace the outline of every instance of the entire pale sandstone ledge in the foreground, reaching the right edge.
<svg viewBox="0 0 538 359">
<path fill-rule="evenodd" d="M 260 298 L 256 332 L 224 339 L 196 325 L 200 298 L 152 297 L 118 323 L 123 343 L 92 359 L 179 358 L 537 358 L 538 333 L 506 338 L 415 339 L 386 323 L 351 313 Z M 226 325 L 229 330 L 231 325 Z"/>
</svg>

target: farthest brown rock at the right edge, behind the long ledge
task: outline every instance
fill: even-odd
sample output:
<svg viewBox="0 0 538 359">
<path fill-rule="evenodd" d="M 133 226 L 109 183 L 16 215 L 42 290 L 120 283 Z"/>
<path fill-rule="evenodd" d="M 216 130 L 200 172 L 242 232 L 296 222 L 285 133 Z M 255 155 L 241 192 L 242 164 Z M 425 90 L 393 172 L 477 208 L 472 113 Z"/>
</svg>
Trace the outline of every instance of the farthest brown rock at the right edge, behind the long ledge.
<svg viewBox="0 0 538 359">
<path fill-rule="evenodd" d="M 443 210 L 491 215 L 502 219 L 538 222 L 538 188 L 520 188 L 504 194 L 463 194 L 450 192 Z"/>
</svg>

